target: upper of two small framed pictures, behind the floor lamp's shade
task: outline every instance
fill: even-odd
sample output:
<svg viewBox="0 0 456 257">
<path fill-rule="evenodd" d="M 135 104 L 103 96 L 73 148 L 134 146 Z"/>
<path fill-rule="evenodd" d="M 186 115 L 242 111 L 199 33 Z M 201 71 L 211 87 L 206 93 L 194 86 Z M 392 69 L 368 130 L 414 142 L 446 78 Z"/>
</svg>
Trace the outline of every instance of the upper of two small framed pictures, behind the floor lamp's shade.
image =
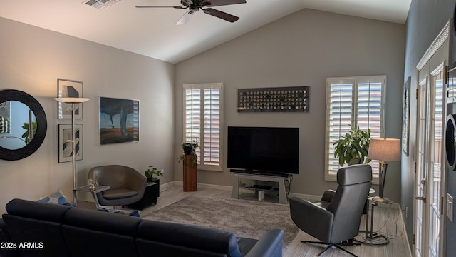
<svg viewBox="0 0 456 257">
<path fill-rule="evenodd" d="M 57 97 L 83 97 L 83 83 L 57 79 Z M 58 119 L 71 119 L 71 104 L 58 102 Z M 74 118 L 83 119 L 83 104 L 74 105 Z"/>
</svg>

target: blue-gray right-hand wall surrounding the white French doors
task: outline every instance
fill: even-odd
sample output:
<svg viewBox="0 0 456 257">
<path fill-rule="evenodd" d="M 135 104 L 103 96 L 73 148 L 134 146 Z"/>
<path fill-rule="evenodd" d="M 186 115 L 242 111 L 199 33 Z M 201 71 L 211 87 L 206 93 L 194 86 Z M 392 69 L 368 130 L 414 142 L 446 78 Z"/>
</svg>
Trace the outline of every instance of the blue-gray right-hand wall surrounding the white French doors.
<svg viewBox="0 0 456 257">
<path fill-rule="evenodd" d="M 420 61 L 427 48 L 443 29 L 448 19 L 453 16 L 455 0 L 422 1 L 413 0 L 410 5 L 408 19 L 405 26 L 405 73 L 404 81 L 408 76 L 411 77 L 411 92 L 417 89 L 418 79 L 416 65 Z M 415 183 L 414 163 L 416 149 L 416 115 L 417 101 L 412 97 L 410 102 L 410 156 L 403 155 L 401 171 L 401 190 L 400 203 L 402 208 L 408 208 L 408 218 L 405 218 L 410 246 L 412 246 L 413 234 L 413 184 Z M 455 184 L 455 174 L 450 173 L 449 184 Z M 449 188 L 450 189 L 450 188 Z M 447 223 L 448 235 L 455 235 L 456 226 L 454 223 Z M 454 237 L 454 236 L 453 236 Z M 450 240 L 450 237 L 447 238 Z M 454 240 L 453 240 L 454 242 Z M 456 251 L 456 246 L 447 243 L 447 256 L 451 256 Z"/>
</svg>

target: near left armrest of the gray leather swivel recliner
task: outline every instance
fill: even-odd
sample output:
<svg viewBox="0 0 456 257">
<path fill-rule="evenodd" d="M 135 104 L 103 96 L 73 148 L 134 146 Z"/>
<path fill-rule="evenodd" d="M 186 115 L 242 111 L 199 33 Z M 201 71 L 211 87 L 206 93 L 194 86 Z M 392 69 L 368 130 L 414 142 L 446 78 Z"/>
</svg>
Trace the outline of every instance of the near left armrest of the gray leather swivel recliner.
<svg viewBox="0 0 456 257">
<path fill-rule="evenodd" d="M 290 214 L 293 222 L 302 231 L 329 243 L 334 214 L 305 199 L 290 198 Z"/>
</svg>

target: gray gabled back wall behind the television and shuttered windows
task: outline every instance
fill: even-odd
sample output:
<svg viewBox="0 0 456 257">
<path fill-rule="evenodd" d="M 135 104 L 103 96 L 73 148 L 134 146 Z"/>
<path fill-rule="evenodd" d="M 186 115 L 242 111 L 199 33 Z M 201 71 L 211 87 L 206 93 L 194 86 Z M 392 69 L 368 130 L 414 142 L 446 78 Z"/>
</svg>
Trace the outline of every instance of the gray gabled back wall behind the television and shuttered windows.
<svg viewBox="0 0 456 257">
<path fill-rule="evenodd" d="M 303 9 L 176 65 L 175 156 L 182 149 L 182 84 L 224 83 L 227 126 L 289 126 L 300 129 L 300 173 L 292 193 L 321 195 L 324 181 L 326 78 L 387 75 L 386 135 L 400 138 L 403 24 Z M 237 89 L 310 86 L 309 113 L 237 113 Z M 226 138 L 226 135 L 225 135 Z M 280 147 L 280 146 L 278 146 Z M 226 160 L 226 154 L 224 156 Z M 175 164 L 182 181 L 182 164 Z M 400 198 L 400 163 L 388 168 L 385 196 Z M 199 183 L 231 186 L 232 175 L 198 171 Z"/>
</svg>

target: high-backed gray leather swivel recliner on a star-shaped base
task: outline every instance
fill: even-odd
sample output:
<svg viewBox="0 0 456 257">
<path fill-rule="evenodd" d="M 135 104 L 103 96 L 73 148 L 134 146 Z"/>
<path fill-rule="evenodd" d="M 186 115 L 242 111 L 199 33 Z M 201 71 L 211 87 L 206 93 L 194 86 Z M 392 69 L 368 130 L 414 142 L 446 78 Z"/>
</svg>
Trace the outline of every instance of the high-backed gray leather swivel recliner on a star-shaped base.
<svg viewBox="0 0 456 257">
<path fill-rule="evenodd" d="M 326 191 L 321 201 L 312 203 L 291 197 L 290 213 L 293 222 L 305 233 L 321 240 L 301 242 L 328 245 L 318 256 L 333 246 L 356 256 L 340 245 L 358 235 L 371 180 L 370 165 L 347 166 L 337 172 L 337 190 Z"/>
</svg>

